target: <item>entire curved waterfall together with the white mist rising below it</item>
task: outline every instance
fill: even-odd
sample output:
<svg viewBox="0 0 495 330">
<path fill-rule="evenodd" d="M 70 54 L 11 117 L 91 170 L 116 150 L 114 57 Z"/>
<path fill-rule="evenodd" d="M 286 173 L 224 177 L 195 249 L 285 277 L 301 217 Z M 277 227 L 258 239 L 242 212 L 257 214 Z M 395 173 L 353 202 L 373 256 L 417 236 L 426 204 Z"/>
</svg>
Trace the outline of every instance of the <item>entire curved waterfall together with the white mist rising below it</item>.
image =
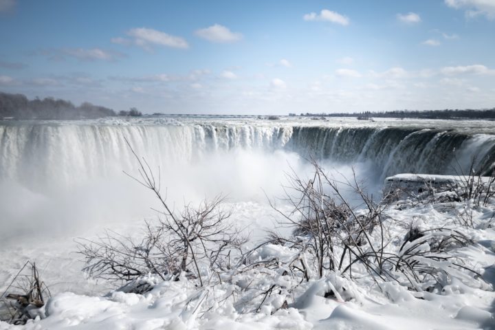
<svg viewBox="0 0 495 330">
<path fill-rule="evenodd" d="M 348 177 L 354 166 L 375 195 L 388 175 L 454 173 L 455 157 L 465 169 L 478 155 L 478 168 L 487 170 L 495 160 L 495 125 L 468 122 L 472 127 L 463 129 L 465 124 L 255 118 L 3 122 L 0 239 L 27 230 L 79 234 L 109 221 L 156 217 L 153 197 L 122 173 L 137 175 L 125 140 L 159 171 L 177 208 L 219 193 L 233 203 L 261 205 L 267 196 L 281 195 L 285 173 L 310 175 L 311 157 Z"/>
</svg>

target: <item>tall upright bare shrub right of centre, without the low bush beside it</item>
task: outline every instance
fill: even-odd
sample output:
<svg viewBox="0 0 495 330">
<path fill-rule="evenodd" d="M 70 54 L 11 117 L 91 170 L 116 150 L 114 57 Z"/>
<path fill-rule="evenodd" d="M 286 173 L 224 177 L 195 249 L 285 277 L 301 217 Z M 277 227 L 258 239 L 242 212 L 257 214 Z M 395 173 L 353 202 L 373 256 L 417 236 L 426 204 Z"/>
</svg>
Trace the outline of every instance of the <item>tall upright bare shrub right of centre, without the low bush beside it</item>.
<svg viewBox="0 0 495 330">
<path fill-rule="evenodd" d="M 316 162 L 313 165 L 315 174 L 312 179 L 289 175 L 290 186 L 285 190 L 283 200 L 294 210 L 290 214 L 280 213 L 287 221 L 285 225 L 294 227 L 294 235 L 278 237 L 278 241 L 308 252 L 312 270 L 318 278 L 329 271 L 349 272 L 352 277 L 352 265 L 356 262 L 362 263 L 373 278 L 381 277 L 373 263 L 382 263 L 387 203 L 375 203 L 354 176 L 353 182 L 345 181 L 343 184 L 358 196 L 359 207 L 364 207 L 364 212 L 358 211 L 359 207 L 344 197 L 339 183 Z M 378 240 L 371 236 L 375 229 L 380 232 Z"/>
</svg>

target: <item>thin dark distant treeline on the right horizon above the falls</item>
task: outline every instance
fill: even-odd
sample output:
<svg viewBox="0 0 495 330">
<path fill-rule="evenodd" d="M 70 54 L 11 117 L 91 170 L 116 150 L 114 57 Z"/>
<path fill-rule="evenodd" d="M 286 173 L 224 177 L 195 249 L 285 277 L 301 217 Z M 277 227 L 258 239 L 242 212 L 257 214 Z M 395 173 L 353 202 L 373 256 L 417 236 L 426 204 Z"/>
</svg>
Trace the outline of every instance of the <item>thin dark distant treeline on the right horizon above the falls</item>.
<svg viewBox="0 0 495 330">
<path fill-rule="evenodd" d="M 295 116 L 295 113 L 289 113 Z M 354 112 L 354 113 L 301 113 L 303 117 L 356 117 L 368 118 L 423 118 L 423 119 L 495 119 L 493 109 L 445 109 L 445 110 L 395 110 L 380 112 Z"/>
</svg>

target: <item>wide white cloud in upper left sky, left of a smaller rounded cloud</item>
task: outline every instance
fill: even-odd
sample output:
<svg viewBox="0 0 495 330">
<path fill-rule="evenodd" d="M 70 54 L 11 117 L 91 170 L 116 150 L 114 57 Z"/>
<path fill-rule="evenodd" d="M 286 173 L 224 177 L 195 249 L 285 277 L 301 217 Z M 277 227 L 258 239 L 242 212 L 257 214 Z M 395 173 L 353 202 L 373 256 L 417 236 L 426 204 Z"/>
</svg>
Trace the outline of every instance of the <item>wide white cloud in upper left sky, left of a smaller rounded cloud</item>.
<svg viewBox="0 0 495 330">
<path fill-rule="evenodd" d="M 187 41 L 179 36 L 172 36 L 162 31 L 149 28 L 134 28 L 127 32 L 131 39 L 117 37 L 112 38 L 112 43 L 119 45 L 137 45 L 145 50 L 151 50 L 154 45 L 186 49 Z"/>
</svg>

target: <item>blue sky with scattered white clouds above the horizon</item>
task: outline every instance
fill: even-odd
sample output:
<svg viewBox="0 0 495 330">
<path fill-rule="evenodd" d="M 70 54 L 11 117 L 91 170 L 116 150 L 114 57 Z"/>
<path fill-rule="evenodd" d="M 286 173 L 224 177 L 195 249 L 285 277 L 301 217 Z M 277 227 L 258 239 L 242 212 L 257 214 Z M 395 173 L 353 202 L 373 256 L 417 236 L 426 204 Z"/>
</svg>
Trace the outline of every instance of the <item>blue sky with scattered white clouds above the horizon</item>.
<svg viewBox="0 0 495 330">
<path fill-rule="evenodd" d="M 0 0 L 0 91 L 144 113 L 495 106 L 495 0 Z"/>
</svg>

